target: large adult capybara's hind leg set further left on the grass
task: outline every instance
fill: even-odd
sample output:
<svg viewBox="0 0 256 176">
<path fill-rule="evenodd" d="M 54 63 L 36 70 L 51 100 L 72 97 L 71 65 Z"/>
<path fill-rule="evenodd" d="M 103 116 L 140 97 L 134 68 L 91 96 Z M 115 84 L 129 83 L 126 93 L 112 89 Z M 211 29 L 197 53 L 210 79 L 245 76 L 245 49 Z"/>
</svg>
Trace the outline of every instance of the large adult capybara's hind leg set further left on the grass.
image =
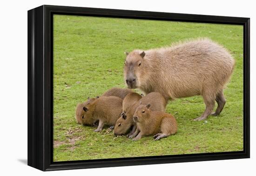
<svg viewBox="0 0 256 176">
<path fill-rule="evenodd" d="M 215 106 L 215 95 L 203 94 L 203 100 L 206 105 L 205 111 L 202 113 L 201 117 L 194 119 L 194 121 L 206 119 Z"/>
</svg>

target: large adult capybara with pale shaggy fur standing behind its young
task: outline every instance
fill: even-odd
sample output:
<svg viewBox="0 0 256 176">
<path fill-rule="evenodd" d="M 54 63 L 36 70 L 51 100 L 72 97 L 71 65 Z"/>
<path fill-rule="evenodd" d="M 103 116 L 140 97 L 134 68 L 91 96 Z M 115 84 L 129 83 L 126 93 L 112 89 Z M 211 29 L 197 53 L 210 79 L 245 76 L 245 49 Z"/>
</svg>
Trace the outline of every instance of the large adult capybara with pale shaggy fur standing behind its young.
<svg viewBox="0 0 256 176">
<path fill-rule="evenodd" d="M 134 50 L 127 53 L 124 80 L 128 88 L 140 88 L 146 94 L 160 92 L 165 99 L 202 95 L 206 105 L 201 117 L 213 111 L 215 100 L 219 115 L 226 103 L 223 87 L 229 81 L 235 61 L 229 52 L 203 38 L 171 47 Z"/>
</svg>

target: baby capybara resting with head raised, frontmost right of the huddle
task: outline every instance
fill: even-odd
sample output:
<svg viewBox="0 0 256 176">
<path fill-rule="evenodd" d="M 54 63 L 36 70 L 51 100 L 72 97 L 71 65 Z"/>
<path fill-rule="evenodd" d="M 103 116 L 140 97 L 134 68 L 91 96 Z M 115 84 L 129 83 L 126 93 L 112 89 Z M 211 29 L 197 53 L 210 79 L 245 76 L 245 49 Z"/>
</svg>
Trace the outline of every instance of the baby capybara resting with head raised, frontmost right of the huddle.
<svg viewBox="0 0 256 176">
<path fill-rule="evenodd" d="M 134 113 L 133 119 L 137 124 L 134 141 L 148 135 L 155 135 L 155 140 L 158 140 L 177 132 L 177 122 L 171 114 L 151 111 L 149 107 L 150 104 L 140 105 Z"/>
</svg>

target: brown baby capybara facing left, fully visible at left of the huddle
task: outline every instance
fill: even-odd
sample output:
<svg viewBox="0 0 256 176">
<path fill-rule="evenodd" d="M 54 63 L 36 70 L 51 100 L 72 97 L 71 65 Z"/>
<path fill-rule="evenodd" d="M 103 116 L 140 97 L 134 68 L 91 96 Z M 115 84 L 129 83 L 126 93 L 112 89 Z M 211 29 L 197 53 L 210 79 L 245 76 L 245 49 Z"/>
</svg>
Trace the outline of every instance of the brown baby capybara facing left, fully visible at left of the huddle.
<svg viewBox="0 0 256 176">
<path fill-rule="evenodd" d="M 83 107 L 82 125 L 91 125 L 99 120 L 99 126 L 94 132 L 100 132 L 106 123 L 114 126 L 122 112 L 122 99 L 115 96 L 101 96 Z"/>
</svg>

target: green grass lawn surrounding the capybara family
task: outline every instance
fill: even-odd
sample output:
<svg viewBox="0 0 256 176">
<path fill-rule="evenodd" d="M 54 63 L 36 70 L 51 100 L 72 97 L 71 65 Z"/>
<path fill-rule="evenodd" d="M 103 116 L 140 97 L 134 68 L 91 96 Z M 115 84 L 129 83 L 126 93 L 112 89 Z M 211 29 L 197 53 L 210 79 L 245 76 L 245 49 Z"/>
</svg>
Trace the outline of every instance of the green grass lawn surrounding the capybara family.
<svg viewBox="0 0 256 176">
<path fill-rule="evenodd" d="M 236 59 L 220 116 L 193 121 L 205 108 L 200 96 L 171 101 L 166 111 L 179 129 L 160 141 L 114 139 L 107 127 L 96 133 L 95 127 L 76 124 L 77 103 L 125 88 L 124 51 L 198 37 L 222 44 Z M 54 161 L 242 151 L 243 26 L 54 15 L 54 143 Z"/>
</svg>

